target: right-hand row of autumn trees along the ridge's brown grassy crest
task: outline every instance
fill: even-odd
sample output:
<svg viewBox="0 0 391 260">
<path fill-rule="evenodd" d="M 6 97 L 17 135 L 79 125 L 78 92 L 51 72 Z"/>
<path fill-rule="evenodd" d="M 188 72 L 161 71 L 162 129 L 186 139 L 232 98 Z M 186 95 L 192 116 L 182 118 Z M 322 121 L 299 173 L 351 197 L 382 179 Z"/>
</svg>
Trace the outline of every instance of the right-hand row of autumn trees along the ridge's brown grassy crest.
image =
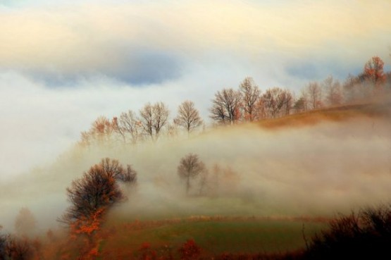
<svg viewBox="0 0 391 260">
<path fill-rule="evenodd" d="M 366 101 L 390 88 L 391 73 L 384 73 L 384 62 L 374 56 L 357 76 L 349 75 L 341 84 L 333 76 L 322 82 L 309 82 L 298 98 L 288 89 L 273 87 L 262 94 L 252 78 L 245 78 L 239 89 L 222 89 L 216 92 L 209 109 L 211 118 L 220 124 L 278 118 L 328 106 L 340 106 Z"/>
</svg>

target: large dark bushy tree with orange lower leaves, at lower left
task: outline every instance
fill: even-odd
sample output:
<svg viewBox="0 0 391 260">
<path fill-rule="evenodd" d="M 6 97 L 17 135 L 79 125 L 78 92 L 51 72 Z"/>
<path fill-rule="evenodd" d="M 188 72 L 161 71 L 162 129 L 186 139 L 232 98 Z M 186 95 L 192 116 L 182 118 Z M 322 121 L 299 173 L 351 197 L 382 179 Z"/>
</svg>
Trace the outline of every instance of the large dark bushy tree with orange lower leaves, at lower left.
<svg viewBox="0 0 391 260">
<path fill-rule="evenodd" d="M 59 221 L 70 225 L 75 233 L 90 235 L 99 228 L 107 209 L 124 199 L 117 182 L 134 183 L 136 176 L 131 166 L 123 168 L 117 160 L 102 159 L 67 188 L 71 206 Z"/>
</svg>

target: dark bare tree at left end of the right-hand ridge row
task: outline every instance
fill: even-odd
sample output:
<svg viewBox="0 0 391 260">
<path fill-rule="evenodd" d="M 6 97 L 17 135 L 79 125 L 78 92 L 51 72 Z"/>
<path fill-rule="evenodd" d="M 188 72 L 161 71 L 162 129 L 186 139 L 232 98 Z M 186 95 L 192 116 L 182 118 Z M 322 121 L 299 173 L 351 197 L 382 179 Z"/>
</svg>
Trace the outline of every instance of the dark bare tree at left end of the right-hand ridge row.
<svg viewBox="0 0 391 260">
<path fill-rule="evenodd" d="M 213 106 L 209 111 L 211 118 L 218 123 L 236 123 L 240 119 L 240 105 L 242 94 L 234 89 L 223 89 L 215 94 Z"/>
</svg>

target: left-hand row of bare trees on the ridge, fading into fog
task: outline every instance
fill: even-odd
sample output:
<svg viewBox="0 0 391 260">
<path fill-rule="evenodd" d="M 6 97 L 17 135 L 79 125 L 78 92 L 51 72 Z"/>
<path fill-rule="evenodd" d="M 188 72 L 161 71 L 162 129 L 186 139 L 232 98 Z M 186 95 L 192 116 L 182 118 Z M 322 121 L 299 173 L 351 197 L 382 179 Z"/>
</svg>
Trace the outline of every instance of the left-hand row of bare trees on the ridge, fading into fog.
<svg viewBox="0 0 391 260">
<path fill-rule="evenodd" d="M 175 135 L 178 128 L 182 128 L 189 135 L 203 123 L 192 101 L 184 101 L 180 104 L 173 123 L 169 122 L 169 114 L 167 105 L 157 102 L 146 104 L 139 110 L 138 116 L 131 110 L 111 120 L 105 116 L 99 116 L 88 131 L 82 132 L 80 143 L 89 145 L 94 142 L 101 144 L 109 140 L 121 140 L 123 144 L 135 145 L 143 140 L 156 142 L 162 132 Z"/>
</svg>

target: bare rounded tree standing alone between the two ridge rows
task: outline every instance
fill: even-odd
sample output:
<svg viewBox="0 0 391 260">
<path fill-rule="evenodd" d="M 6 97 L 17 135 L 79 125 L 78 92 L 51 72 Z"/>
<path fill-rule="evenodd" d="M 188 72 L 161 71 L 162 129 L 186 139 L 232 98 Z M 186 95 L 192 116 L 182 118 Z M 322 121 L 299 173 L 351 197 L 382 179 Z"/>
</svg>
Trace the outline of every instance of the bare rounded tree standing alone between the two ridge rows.
<svg viewBox="0 0 391 260">
<path fill-rule="evenodd" d="M 185 128 L 189 134 L 194 128 L 202 125 L 202 119 L 199 116 L 199 111 L 194 108 L 192 101 L 184 101 L 178 107 L 178 115 L 174 118 L 174 123 L 182 128 Z"/>
</svg>

